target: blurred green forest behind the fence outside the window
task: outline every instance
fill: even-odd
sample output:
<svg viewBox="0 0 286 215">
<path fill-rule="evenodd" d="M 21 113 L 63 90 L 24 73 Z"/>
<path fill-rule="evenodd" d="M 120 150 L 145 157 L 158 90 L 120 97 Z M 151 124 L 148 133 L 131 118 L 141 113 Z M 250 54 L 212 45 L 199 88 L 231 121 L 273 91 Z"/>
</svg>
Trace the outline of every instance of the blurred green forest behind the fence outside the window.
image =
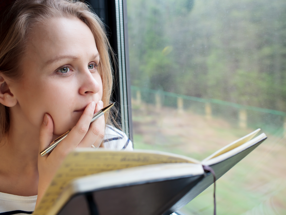
<svg viewBox="0 0 286 215">
<path fill-rule="evenodd" d="M 131 84 L 286 111 L 286 1 L 127 0 Z"/>
</svg>

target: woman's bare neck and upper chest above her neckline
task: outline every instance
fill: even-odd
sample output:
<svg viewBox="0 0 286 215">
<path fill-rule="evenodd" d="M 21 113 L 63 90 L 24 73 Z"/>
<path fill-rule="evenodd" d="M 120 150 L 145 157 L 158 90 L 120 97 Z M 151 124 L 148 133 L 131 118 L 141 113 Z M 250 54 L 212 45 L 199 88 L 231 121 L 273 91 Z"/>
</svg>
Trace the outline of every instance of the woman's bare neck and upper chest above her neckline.
<svg viewBox="0 0 286 215">
<path fill-rule="evenodd" d="M 39 128 L 13 108 L 9 131 L 0 142 L 0 192 L 37 195 Z"/>
</svg>

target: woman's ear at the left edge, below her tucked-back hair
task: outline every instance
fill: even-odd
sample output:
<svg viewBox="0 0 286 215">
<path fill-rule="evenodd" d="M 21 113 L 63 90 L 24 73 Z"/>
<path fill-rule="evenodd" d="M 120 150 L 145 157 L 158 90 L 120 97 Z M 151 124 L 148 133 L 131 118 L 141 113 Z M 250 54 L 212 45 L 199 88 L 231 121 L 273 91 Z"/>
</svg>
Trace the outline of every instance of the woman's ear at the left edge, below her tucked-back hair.
<svg viewBox="0 0 286 215">
<path fill-rule="evenodd" d="M 18 100 L 13 93 L 10 92 L 7 82 L 9 83 L 9 81 L 0 74 L 0 103 L 7 107 L 13 107 L 17 104 Z"/>
</svg>

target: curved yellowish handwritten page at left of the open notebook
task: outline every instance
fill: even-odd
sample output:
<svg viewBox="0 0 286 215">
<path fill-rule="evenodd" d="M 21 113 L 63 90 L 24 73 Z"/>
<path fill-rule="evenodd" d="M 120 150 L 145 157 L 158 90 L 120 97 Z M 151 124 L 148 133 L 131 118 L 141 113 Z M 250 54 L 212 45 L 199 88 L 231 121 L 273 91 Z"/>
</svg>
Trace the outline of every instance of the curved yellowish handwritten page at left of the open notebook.
<svg viewBox="0 0 286 215">
<path fill-rule="evenodd" d="M 34 214 L 47 214 L 63 188 L 74 178 L 110 170 L 162 163 L 197 163 L 197 161 L 180 155 L 154 151 L 76 150 L 66 157 L 58 169 Z"/>
</svg>

